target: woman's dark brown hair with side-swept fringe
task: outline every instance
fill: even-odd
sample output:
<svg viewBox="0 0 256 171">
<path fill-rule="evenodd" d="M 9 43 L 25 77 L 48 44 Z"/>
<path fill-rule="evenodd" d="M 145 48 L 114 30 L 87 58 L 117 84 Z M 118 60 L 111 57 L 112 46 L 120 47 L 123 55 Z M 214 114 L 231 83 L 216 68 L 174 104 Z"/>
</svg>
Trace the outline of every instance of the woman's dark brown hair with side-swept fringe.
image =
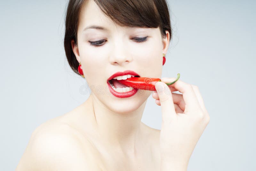
<svg viewBox="0 0 256 171">
<path fill-rule="evenodd" d="M 78 61 L 73 53 L 71 40 L 77 45 L 77 28 L 79 16 L 85 1 L 69 0 L 66 21 L 64 48 L 68 63 L 77 74 Z M 172 39 L 172 27 L 169 14 L 169 6 L 166 0 L 93 0 L 100 10 L 120 26 L 136 26 L 146 28 L 160 28 L 163 38 L 165 31 L 170 33 Z M 80 74 L 79 74 L 80 75 Z"/>
</svg>

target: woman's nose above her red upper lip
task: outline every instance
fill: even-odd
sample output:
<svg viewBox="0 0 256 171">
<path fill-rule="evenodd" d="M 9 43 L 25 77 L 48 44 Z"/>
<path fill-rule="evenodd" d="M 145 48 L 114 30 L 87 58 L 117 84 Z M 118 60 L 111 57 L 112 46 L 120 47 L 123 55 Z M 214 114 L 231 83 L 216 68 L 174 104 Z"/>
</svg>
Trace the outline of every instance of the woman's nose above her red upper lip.
<svg viewBox="0 0 256 171">
<path fill-rule="evenodd" d="M 109 61 L 112 65 L 124 65 L 132 61 L 132 56 L 130 53 L 127 53 L 125 49 L 125 43 L 122 41 L 116 41 L 113 43 L 113 48 L 109 56 Z"/>
</svg>

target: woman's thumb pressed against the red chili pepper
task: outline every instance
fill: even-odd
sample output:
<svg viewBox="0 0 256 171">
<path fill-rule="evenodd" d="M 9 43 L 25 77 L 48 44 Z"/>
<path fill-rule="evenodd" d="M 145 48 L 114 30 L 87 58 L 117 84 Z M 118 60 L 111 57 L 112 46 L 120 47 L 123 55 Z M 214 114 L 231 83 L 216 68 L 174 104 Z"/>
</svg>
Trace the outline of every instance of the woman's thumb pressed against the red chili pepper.
<svg viewBox="0 0 256 171">
<path fill-rule="evenodd" d="M 162 120 L 170 122 L 176 116 L 170 87 L 161 81 L 157 82 L 155 87 L 162 108 Z"/>
</svg>

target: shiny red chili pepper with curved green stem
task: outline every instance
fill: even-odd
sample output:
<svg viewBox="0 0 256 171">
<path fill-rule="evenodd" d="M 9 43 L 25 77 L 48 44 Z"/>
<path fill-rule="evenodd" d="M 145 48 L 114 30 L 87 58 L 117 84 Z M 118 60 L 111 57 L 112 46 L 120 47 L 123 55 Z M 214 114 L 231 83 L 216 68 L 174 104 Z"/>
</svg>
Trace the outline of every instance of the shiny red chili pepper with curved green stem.
<svg viewBox="0 0 256 171">
<path fill-rule="evenodd" d="M 180 74 L 177 74 L 178 77 L 175 81 L 171 83 L 165 83 L 166 85 L 171 85 L 175 83 L 179 78 Z M 158 81 L 161 81 L 159 78 L 150 78 L 150 77 L 131 77 L 124 80 L 117 80 L 121 84 L 127 85 L 129 87 L 141 89 L 141 90 L 149 90 L 149 91 L 156 91 L 155 84 Z"/>
</svg>

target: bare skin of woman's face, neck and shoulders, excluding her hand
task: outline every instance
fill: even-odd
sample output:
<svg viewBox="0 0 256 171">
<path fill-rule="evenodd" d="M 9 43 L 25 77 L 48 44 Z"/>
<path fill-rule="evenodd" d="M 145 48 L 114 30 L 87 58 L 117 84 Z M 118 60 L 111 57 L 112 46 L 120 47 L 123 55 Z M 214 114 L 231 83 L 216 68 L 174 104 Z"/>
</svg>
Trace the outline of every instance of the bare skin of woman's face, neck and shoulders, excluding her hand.
<svg viewBox="0 0 256 171">
<path fill-rule="evenodd" d="M 160 78 L 170 33 L 163 38 L 159 28 L 118 26 L 93 1 L 84 5 L 80 17 L 78 45 L 71 44 L 92 95 L 40 125 L 17 170 L 160 170 L 160 130 L 141 123 L 150 93 L 121 99 L 109 92 L 100 94 L 92 86 L 105 88 L 111 75 L 125 70 Z M 91 25 L 106 29 L 84 29 Z M 145 36 L 144 42 L 134 39 Z M 107 41 L 100 47 L 90 44 L 102 39 Z"/>
</svg>

